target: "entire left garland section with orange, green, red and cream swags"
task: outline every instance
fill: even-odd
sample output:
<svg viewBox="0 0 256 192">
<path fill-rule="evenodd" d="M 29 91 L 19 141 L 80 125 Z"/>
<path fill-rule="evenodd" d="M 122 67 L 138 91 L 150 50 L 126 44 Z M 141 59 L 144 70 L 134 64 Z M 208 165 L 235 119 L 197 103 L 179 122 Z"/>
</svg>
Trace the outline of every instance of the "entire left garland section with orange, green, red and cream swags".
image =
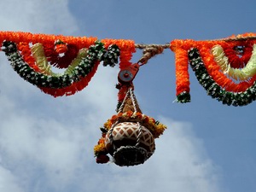
<svg viewBox="0 0 256 192">
<path fill-rule="evenodd" d="M 55 97 L 83 90 L 101 61 L 104 67 L 114 67 L 118 61 L 120 67 L 131 65 L 135 52 L 131 40 L 98 41 L 29 32 L 0 32 L 0 42 L 20 77 Z M 66 70 L 54 73 L 52 67 Z"/>
</svg>

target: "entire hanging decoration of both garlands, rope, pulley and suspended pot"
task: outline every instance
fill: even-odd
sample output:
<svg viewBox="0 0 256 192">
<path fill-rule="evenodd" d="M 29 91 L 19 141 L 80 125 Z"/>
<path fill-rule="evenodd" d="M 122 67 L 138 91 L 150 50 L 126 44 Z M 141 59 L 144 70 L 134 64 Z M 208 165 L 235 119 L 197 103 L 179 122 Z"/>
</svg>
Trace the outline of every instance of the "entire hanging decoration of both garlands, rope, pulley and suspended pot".
<svg viewBox="0 0 256 192">
<path fill-rule="evenodd" d="M 101 128 L 102 137 L 94 148 L 97 163 L 136 166 L 154 154 L 154 139 L 163 134 L 166 125 L 142 113 L 132 81 L 140 67 L 164 49 L 175 54 L 177 102 L 190 102 L 189 65 L 207 95 L 223 104 L 245 106 L 256 100 L 255 33 L 205 41 L 135 44 L 125 39 L 0 32 L 0 44 L 22 79 L 55 97 L 83 90 L 100 63 L 104 67 L 119 63 L 117 113 Z M 132 63 L 137 49 L 143 49 L 143 57 Z M 54 68 L 63 72 L 56 73 Z"/>
</svg>

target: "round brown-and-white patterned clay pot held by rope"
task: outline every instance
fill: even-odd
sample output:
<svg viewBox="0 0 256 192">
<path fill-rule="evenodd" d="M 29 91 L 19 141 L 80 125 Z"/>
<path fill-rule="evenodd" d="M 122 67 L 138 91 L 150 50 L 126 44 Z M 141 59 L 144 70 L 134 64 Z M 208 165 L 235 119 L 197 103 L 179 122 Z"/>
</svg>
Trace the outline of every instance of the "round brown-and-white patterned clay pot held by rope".
<svg viewBox="0 0 256 192">
<path fill-rule="evenodd" d="M 150 131 L 136 122 L 122 122 L 108 131 L 105 146 L 113 161 L 119 166 L 135 166 L 143 164 L 154 153 L 154 137 Z M 111 143 L 111 137 L 113 142 Z M 137 144 L 138 143 L 138 144 Z"/>
</svg>

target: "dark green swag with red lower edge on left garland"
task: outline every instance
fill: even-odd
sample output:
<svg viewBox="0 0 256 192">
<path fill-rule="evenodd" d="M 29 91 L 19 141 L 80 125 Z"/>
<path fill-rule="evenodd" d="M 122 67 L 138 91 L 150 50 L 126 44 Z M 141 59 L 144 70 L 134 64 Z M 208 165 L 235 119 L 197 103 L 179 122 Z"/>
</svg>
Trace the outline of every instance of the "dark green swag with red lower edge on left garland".
<svg viewBox="0 0 256 192">
<path fill-rule="evenodd" d="M 89 83 L 94 73 L 96 73 L 96 68 L 100 61 L 105 59 L 103 44 L 96 42 L 96 45 L 90 46 L 88 55 L 80 60 L 79 65 L 74 67 L 72 73 L 51 74 L 49 76 L 49 70 L 47 69 L 49 66 L 45 67 L 47 64 L 44 55 L 39 54 L 40 59 L 38 62 L 42 61 L 44 63 L 42 66 L 39 65 L 39 69 L 43 68 L 44 71 L 43 73 L 38 73 L 22 59 L 20 53 L 17 52 L 15 43 L 4 41 L 3 51 L 8 56 L 12 67 L 20 74 L 20 77 L 31 84 L 37 85 L 45 93 L 52 96 L 72 95 L 76 91 L 84 89 L 84 86 Z M 44 74 L 45 72 L 46 74 Z"/>
</svg>

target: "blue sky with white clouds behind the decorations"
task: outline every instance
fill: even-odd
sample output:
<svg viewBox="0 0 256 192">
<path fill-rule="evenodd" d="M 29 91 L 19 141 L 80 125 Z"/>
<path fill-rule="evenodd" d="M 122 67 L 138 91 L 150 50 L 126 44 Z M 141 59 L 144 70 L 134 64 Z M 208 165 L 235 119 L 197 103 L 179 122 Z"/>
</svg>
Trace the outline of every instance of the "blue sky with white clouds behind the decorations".
<svg viewBox="0 0 256 192">
<path fill-rule="evenodd" d="M 0 2 L 1 31 L 133 39 L 166 44 L 255 32 L 248 1 Z M 138 50 L 133 57 L 141 56 Z M 53 98 L 28 84 L 0 55 L 0 191 L 253 192 L 256 188 L 255 103 L 213 100 L 190 70 L 192 102 L 175 98 L 174 54 L 166 49 L 134 80 L 143 113 L 168 125 L 141 166 L 97 165 L 99 127 L 115 113 L 118 67 L 100 67 L 74 96 Z"/>
</svg>

